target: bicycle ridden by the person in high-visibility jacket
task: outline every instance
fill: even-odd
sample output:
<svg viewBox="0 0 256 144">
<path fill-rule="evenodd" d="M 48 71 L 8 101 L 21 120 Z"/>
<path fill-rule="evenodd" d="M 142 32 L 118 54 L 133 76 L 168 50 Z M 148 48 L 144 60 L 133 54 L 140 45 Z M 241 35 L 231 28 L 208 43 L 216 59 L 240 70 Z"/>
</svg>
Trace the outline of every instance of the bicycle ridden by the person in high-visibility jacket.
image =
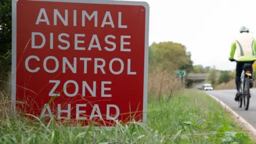
<svg viewBox="0 0 256 144">
<path fill-rule="evenodd" d="M 231 59 L 230 61 L 236 61 L 234 59 Z M 237 62 L 237 61 L 236 61 Z M 239 82 L 239 92 L 241 95 L 239 95 L 239 101 L 238 101 L 238 106 L 239 108 L 242 107 L 243 105 L 243 100 L 244 100 L 244 109 L 248 110 L 249 109 L 249 103 L 250 103 L 250 98 L 251 98 L 251 93 L 250 93 L 250 77 L 252 77 L 252 65 L 251 63 L 245 62 L 243 66 L 243 71 L 240 77 L 240 82 Z"/>
</svg>

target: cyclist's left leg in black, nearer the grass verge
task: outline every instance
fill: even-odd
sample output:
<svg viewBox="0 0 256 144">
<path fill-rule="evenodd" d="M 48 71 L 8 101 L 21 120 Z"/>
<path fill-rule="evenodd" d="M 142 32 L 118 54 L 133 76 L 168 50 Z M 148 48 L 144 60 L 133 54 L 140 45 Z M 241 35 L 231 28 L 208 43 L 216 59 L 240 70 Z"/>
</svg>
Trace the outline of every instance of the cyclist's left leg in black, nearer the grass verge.
<svg viewBox="0 0 256 144">
<path fill-rule="evenodd" d="M 239 83 L 240 83 L 240 78 L 241 78 L 241 74 L 243 71 L 244 63 L 245 62 L 242 62 L 242 61 L 236 62 L 236 90 L 237 90 L 237 93 L 236 93 L 235 101 L 238 101 L 238 98 L 240 96 L 240 93 L 239 93 L 240 84 Z"/>
</svg>

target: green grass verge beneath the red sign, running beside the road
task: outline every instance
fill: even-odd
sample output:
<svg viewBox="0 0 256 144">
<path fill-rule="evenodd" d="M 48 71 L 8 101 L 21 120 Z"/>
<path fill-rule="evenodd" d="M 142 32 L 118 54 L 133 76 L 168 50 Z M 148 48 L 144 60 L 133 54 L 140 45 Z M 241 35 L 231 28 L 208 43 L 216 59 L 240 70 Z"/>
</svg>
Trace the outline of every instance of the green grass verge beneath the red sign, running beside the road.
<svg viewBox="0 0 256 144">
<path fill-rule="evenodd" d="M 28 119 L 0 121 L 0 143 L 249 143 L 251 139 L 218 102 L 196 90 L 185 90 L 171 101 L 148 100 L 147 125 L 131 122 L 106 130 L 31 123 Z"/>
</svg>

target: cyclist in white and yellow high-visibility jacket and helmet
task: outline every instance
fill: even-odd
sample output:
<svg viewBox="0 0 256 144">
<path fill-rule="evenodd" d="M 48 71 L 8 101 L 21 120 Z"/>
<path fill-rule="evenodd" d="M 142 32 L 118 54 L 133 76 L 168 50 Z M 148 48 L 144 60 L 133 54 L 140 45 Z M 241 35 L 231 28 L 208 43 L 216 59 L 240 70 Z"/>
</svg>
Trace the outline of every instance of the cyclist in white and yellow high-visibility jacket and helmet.
<svg viewBox="0 0 256 144">
<path fill-rule="evenodd" d="M 252 37 L 250 33 L 250 29 L 246 27 L 241 27 L 239 34 L 233 41 L 231 45 L 231 51 L 229 60 L 234 61 L 234 54 L 236 52 L 236 97 L 235 101 L 239 100 L 239 96 L 241 93 L 239 93 L 239 82 L 240 77 L 243 71 L 243 65 L 245 62 L 249 62 L 253 64 L 253 62 L 256 60 L 255 52 L 256 52 L 256 42 L 254 37 Z M 236 51 L 236 48 L 238 50 Z M 252 72 L 253 73 L 253 72 Z M 250 88 L 253 87 L 253 79 L 250 78 Z"/>
</svg>

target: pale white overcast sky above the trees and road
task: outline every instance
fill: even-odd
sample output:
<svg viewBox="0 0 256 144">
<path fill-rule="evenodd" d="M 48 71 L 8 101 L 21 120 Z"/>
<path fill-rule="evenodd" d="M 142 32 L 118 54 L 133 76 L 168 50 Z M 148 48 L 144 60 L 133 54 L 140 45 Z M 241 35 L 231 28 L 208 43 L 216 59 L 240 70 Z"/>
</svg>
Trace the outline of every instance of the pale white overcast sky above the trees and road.
<svg viewBox="0 0 256 144">
<path fill-rule="evenodd" d="M 239 34 L 239 28 L 245 26 L 256 36 L 255 0 L 144 2 L 150 7 L 149 44 L 164 41 L 182 43 L 191 52 L 194 65 L 234 70 L 236 63 L 230 62 L 228 57 L 231 42 Z"/>
</svg>

